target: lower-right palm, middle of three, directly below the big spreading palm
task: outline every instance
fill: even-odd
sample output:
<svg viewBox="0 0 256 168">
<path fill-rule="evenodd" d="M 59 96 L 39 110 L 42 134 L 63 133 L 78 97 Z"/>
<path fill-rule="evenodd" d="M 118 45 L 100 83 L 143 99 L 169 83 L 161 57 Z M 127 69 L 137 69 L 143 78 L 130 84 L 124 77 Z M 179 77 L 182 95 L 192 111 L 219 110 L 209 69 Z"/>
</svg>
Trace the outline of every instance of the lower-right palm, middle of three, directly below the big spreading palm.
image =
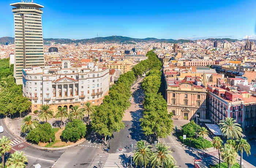
<svg viewBox="0 0 256 168">
<path fill-rule="evenodd" d="M 237 156 L 238 153 L 232 145 L 225 144 L 224 148 L 221 148 L 221 158 L 227 163 L 227 168 L 237 163 Z"/>
</svg>

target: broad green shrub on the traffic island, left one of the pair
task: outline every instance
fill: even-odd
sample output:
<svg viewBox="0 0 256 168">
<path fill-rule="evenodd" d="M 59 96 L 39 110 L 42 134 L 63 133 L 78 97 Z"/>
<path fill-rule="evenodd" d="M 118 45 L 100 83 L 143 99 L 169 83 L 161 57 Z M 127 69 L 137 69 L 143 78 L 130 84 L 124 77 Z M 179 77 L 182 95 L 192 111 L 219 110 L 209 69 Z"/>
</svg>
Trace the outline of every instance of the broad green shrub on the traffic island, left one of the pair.
<svg viewBox="0 0 256 168">
<path fill-rule="evenodd" d="M 34 144 L 49 142 L 50 138 L 52 138 L 53 142 L 55 140 L 55 134 L 52 131 L 52 126 L 48 122 L 39 124 L 27 134 L 27 140 L 32 141 Z"/>
</svg>

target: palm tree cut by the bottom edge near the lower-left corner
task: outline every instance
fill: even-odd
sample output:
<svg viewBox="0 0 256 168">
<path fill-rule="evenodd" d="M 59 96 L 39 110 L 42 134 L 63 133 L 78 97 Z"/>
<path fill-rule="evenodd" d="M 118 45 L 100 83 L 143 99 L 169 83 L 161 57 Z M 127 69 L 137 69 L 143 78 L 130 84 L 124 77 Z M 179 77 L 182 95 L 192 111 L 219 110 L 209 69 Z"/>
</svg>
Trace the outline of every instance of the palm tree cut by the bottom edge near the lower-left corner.
<svg viewBox="0 0 256 168">
<path fill-rule="evenodd" d="M 24 152 L 18 151 L 12 153 L 8 160 L 6 161 L 6 165 L 8 168 L 25 168 L 26 162 L 28 162 L 27 157 L 24 156 Z"/>
</svg>

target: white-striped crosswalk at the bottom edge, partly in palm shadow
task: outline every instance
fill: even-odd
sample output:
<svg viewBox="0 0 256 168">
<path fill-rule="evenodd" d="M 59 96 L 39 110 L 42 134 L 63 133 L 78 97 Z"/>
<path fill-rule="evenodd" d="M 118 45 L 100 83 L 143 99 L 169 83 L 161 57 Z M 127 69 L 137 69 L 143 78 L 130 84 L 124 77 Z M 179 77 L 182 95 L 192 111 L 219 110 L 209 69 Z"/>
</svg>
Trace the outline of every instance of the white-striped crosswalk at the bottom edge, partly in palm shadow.
<svg viewBox="0 0 256 168">
<path fill-rule="evenodd" d="M 131 164 L 131 153 L 111 153 L 103 168 L 128 168 Z"/>
</svg>

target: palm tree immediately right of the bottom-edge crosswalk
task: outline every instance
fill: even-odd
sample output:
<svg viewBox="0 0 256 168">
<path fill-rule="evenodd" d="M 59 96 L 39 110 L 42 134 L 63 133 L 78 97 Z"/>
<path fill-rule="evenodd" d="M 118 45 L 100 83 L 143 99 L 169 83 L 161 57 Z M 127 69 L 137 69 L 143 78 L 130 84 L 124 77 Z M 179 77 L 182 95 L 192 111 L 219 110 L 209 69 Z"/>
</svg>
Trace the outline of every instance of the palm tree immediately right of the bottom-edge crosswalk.
<svg viewBox="0 0 256 168">
<path fill-rule="evenodd" d="M 147 145 L 146 141 L 138 141 L 135 147 L 137 149 L 134 150 L 133 161 L 135 162 L 136 166 L 140 165 L 140 167 L 144 166 L 146 168 L 152 154 L 152 151 L 150 150 L 150 147 L 152 146 Z"/>
</svg>

